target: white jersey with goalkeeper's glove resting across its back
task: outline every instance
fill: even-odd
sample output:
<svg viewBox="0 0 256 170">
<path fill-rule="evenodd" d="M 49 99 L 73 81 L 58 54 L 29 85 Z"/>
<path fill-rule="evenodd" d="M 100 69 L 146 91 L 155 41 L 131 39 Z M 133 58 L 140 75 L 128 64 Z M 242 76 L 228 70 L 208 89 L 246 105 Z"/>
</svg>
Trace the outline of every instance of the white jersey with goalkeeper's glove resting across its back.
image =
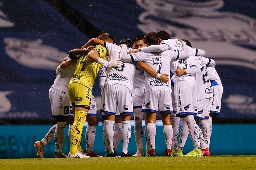
<svg viewBox="0 0 256 170">
<path fill-rule="evenodd" d="M 116 57 L 120 58 L 120 51 L 122 49 L 120 46 L 108 42 L 105 42 L 104 46 L 108 49 L 109 60 L 115 59 Z M 127 51 L 130 50 L 132 48 L 127 48 Z M 123 63 L 120 69 L 117 67 L 108 67 L 105 85 L 108 83 L 117 83 L 125 85 L 132 91 L 134 74 L 135 64 L 133 62 Z"/>
</svg>

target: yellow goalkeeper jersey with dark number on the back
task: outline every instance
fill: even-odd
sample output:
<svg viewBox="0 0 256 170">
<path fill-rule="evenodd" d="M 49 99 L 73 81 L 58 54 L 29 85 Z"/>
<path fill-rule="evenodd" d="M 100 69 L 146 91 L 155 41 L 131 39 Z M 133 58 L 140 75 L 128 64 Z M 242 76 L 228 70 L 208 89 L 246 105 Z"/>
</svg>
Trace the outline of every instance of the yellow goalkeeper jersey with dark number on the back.
<svg viewBox="0 0 256 170">
<path fill-rule="evenodd" d="M 99 53 L 100 58 L 105 60 L 107 49 L 97 45 L 93 50 Z M 98 75 L 101 65 L 87 57 L 85 54 L 76 55 L 76 70 L 69 83 L 80 83 L 92 90 L 94 81 Z"/>
</svg>

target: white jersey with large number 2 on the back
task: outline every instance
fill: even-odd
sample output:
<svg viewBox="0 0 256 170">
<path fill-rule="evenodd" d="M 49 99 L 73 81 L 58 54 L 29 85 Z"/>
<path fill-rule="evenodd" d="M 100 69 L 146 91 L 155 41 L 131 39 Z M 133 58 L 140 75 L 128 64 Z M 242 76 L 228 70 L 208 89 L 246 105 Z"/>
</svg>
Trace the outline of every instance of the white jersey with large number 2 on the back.
<svg viewBox="0 0 256 170">
<path fill-rule="evenodd" d="M 190 56 L 188 60 L 194 62 L 196 67 L 200 69 L 200 71 L 194 74 L 194 77 L 196 78 L 197 100 L 212 97 L 212 86 L 204 59 L 200 56 Z"/>
</svg>

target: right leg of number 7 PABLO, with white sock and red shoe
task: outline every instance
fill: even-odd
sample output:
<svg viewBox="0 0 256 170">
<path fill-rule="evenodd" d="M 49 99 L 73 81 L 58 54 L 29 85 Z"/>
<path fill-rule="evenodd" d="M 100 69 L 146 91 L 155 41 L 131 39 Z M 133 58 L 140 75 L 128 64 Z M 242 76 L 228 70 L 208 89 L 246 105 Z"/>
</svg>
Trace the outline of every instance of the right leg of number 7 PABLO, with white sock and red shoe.
<svg viewBox="0 0 256 170">
<path fill-rule="evenodd" d="M 171 114 L 161 114 L 161 119 L 164 124 L 164 138 L 165 138 L 165 152 L 164 156 L 172 156 L 172 125 L 171 125 Z"/>
</svg>

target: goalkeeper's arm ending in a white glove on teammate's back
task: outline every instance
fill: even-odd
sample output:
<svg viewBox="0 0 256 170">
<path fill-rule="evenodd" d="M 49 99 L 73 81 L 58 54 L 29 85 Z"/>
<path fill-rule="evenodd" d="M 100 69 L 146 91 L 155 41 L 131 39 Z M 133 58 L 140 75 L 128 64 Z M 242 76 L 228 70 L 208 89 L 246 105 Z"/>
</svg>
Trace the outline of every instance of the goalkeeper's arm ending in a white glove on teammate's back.
<svg viewBox="0 0 256 170">
<path fill-rule="evenodd" d="M 123 65 L 123 62 L 119 59 L 111 59 L 109 61 L 106 61 L 100 57 L 100 52 L 96 49 L 90 51 L 87 55 L 88 58 L 94 60 L 95 62 L 105 66 L 105 67 L 117 67 L 121 68 Z"/>
</svg>

